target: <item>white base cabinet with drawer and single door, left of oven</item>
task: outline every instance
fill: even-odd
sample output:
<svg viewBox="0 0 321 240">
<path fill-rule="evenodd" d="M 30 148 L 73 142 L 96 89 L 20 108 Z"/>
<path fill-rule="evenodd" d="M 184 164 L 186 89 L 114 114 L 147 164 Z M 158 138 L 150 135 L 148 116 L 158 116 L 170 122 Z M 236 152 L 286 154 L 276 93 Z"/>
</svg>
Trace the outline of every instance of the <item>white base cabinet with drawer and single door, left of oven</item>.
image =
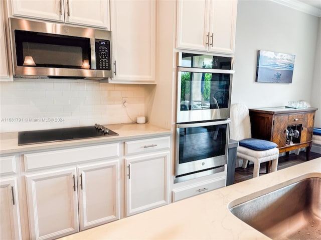
<svg viewBox="0 0 321 240">
<path fill-rule="evenodd" d="M 126 216 L 169 203 L 170 137 L 125 142 Z"/>
</svg>

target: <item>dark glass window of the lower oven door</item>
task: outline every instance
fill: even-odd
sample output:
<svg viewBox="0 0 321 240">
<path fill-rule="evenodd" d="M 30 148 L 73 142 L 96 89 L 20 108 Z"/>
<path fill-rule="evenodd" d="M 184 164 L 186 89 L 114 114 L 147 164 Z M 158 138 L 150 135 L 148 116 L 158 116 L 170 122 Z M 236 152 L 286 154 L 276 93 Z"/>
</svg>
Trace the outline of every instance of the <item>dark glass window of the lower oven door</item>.
<svg viewBox="0 0 321 240">
<path fill-rule="evenodd" d="M 180 128 L 179 163 L 226 154 L 227 124 Z"/>
</svg>

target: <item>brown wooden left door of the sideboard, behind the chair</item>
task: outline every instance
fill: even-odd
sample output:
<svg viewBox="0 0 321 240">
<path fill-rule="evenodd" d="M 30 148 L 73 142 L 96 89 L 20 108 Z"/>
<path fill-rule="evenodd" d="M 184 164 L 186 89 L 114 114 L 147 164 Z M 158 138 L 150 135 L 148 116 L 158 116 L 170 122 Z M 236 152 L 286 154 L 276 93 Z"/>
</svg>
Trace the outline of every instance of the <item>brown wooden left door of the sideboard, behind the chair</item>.
<svg viewBox="0 0 321 240">
<path fill-rule="evenodd" d="M 275 115 L 273 120 L 272 141 L 277 147 L 285 146 L 288 115 Z"/>
</svg>

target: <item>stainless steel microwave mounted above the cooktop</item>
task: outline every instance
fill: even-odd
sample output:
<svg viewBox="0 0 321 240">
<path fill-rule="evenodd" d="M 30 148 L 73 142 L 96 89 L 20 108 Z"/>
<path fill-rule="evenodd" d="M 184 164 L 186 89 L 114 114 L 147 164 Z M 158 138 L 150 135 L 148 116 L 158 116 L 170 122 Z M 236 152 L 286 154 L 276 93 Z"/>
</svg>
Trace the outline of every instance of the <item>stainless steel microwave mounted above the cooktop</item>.
<svg viewBox="0 0 321 240">
<path fill-rule="evenodd" d="M 14 77 L 112 77 L 111 31 L 10 18 Z"/>
</svg>

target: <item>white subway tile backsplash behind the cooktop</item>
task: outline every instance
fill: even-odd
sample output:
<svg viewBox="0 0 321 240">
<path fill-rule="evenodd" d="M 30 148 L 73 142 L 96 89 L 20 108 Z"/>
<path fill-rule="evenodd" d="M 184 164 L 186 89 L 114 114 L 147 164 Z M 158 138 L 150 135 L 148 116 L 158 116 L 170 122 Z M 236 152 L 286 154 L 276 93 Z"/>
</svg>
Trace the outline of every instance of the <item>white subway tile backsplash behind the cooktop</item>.
<svg viewBox="0 0 321 240">
<path fill-rule="evenodd" d="M 0 131 L 131 122 L 144 115 L 144 90 L 143 85 L 70 79 L 0 82 L 1 118 L 20 119 L 2 121 Z M 128 97 L 127 108 L 122 107 L 122 96 Z M 61 121 L 47 121 L 49 117 Z"/>
</svg>

